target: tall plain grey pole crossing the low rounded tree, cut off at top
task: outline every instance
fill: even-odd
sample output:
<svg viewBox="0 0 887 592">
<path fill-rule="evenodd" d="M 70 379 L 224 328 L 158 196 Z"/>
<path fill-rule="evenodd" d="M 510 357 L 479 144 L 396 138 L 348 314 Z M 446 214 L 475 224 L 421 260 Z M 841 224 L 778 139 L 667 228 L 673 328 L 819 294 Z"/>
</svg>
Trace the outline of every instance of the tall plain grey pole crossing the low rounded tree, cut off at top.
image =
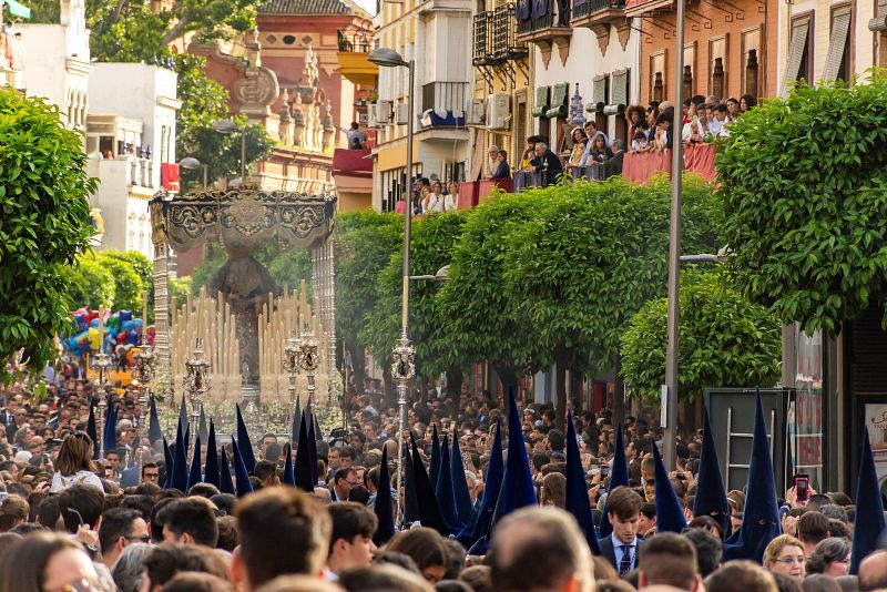
<svg viewBox="0 0 887 592">
<path fill-rule="evenodd" d="M 681 201 L 682 173 L 684 170 L 684 145 L 682 142 L 684 104 L 684 11 L 686 0 L 676 0 L 677 34 L 675 35 L 674 58 L 674 122 L 672 127 L 672 206 L 669 225 L 669 316 L 666 323 L 667 344 L 665 346 L 665 467 L 674 469 L 675 442 L 677 433 L 677 327 L 681 284 Z"/>
</svg>

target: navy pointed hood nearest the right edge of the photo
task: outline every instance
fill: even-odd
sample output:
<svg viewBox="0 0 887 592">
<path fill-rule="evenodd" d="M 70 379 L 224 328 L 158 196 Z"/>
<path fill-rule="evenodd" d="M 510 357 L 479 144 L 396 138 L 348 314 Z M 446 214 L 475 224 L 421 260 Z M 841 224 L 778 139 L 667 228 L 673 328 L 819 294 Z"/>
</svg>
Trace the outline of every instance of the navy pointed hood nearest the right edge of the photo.
<svg viewBox="0 0 887 592">
<path fill-rule="evenodd" d="M 853 529 L 850 573 L 859 573 L 859 563 L 878 549 L 878 539 L 884 532 L 884 501 L 878 488 L 878 473 L 871 456 L 868 428 L 863 440 L 863 457 L 859 459 L 859 476 L 856 480 L 856 521 Z"/>
</svg>

